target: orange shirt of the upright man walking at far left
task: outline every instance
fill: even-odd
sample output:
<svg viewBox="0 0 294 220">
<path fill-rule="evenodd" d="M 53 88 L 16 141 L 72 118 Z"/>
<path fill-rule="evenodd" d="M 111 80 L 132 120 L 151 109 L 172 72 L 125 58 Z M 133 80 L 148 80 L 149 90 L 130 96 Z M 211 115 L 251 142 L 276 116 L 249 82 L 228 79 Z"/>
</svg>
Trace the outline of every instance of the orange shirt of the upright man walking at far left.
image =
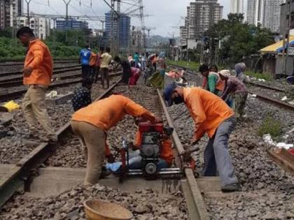
<svg viewBox="0 0 294 220">
<path fill-rule="evenodd" d="M 25 67 L 33 68 L 31 75 L 23 79 L 24 85 L 50 85 L 52 78 L 53 60 L 50 50 L 42 41 L 36 39 L 29 43 Z"/>
</svg>

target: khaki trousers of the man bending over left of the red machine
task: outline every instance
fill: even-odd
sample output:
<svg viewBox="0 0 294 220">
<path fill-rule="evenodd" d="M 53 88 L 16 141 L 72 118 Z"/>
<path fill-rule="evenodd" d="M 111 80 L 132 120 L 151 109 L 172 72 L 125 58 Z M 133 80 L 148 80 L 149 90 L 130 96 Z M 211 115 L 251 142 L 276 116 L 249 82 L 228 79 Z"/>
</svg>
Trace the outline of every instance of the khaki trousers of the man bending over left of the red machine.
<svg viewBox="0 0 294 220">
<path fill-rule="evenodd" d="M 84 184 L 96 184 L 102 172 L 105 159 L 105 133 L 87 122 L 71 121 L 73 132 L 78 135 L 87 160 Z"/>
</svg>

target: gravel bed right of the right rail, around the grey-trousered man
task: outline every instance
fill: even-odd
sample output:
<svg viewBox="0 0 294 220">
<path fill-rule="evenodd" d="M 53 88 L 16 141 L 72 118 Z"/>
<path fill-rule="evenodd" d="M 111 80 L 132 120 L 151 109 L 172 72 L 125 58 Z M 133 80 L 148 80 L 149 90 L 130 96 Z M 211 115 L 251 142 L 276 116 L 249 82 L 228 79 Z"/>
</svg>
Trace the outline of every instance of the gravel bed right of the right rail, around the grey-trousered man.
<svg viewBox="0 0 294 220">
<path fill-rule="evenodd" d="M 189 80 L 196 81 L 192 75 Z M 167 83 L 170 82 L 167 79 Z M 198 84 L 199 85 L 199 84 Z M 194 122 L 185 105 L 169 108 L 184 147 L 190 146 Z M 269 145 L 257 135 L 263 119 L 271 115 L 282 122 L 282 133 L 294 127 L 294 114 L 283 108 L 262 102 L 249 96 L 246 119 L 237 125 L 230 137 L 230 155 L 236 175 L 242 186 L 238 196 L 210 198 L 204 195 L 211 219 L 291 219 L 293 218 L 294 177 L 276 166 L 269 159 Z M 293 143 L 294 134 L 286 142 Z M 193 157 L 197 168 L 203 168 L 203 152 L 207 137 L 199 143 L 199 151 Z M 292 212 L 291 212 L 292 211 Z"/>
</svg>

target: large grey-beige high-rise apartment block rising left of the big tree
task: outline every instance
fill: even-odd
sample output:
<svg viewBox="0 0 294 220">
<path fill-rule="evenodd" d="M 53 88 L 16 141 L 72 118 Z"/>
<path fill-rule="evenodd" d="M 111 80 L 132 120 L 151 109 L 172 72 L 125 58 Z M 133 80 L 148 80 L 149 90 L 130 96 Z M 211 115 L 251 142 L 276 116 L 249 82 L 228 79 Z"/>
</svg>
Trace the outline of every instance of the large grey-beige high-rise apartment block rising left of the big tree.
<svg viewBox="0 0 294 220">
<path fill-rule="evenodd" d="M 185 26 L 181 27 L 181 41 L 200 40 L 205 31 L 223 17 L 223 6 L 218 0 L 195 0 L 187 7 Z"/>
</svg>

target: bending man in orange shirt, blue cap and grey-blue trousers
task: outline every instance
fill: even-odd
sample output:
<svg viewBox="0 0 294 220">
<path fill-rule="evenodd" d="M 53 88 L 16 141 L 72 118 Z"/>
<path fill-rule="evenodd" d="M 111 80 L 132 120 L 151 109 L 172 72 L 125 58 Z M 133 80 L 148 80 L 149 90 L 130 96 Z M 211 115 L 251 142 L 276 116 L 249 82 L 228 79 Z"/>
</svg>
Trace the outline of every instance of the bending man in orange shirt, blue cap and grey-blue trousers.
<svg viewBox="0 0 294 220">
<path fill-rule="evenodd" d="M 239 191 L 240 186 L 228 151 L 228 139 L 236 126 L 234 112 L 218 96 L 200 88 L 183 88 L 168 85 L 164 91 L 168 105 L 185 103 L 195 122 L 195 133 L 191 145 L 196 145 L 204 133 L 209 142 L 204 151 L 204 176 L 221 177 L 222 191 Z M 190 157 L 196 148 L 187 149 L 184 154 Z"/>
</svg>

